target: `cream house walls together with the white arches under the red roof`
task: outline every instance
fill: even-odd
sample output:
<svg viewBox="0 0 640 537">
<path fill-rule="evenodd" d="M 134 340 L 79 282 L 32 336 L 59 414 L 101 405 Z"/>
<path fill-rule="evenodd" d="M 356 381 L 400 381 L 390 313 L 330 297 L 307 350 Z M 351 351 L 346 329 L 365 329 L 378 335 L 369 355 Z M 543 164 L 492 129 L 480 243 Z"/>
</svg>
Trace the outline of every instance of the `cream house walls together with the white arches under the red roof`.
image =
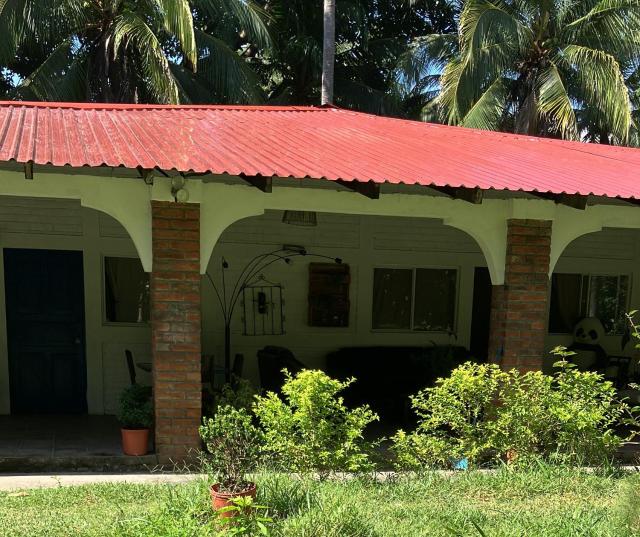
<svg viewBox="0 0 640 537">
<path fill-rule="evenodd" d="M 254 381 L 255 352 L 266 344 L 291 348 L 309 366 L 321 366 L 327 352 L 345 345 L 452 341 L 468 346 L 473 270 L 488 266 L 494 283 L 502 283 L 508 218 L 553 220 L 551 261 L 557 271 L 631 274 L 630 308 L 640 306 L 640 285 L 636 285 L 640 281 L 640 211 L 636 207 L 598 205 L 577 211 L 527 199 L 486 199 L 482 205 L 471 205 L 415 192 L 383 194 L 380 200 L 370 200 L 353 192 L 302 186 L 278 186 L 272 194 L 265 194 L 251 187 L 195 180 L 189 182 L 189 189 L 191 201 L 201 204 L 203 271 L 208 269 L 215 276 L 219 259 L 224 256 L 231 264 L 233 279 L 234 267 L 243 266 L 258 253 L 292 243 L 339 256 L 351 266 L 351 319 L 349 327 L 343 329 L 307 326 L 307 264 L 311 259 L 298 258 L 292 266 L 273 265 L 266 272 L 270 280 L 284 285 L 286 335 L 242 336 L 238 309 L 233 352 L 245 354 L 246 372 Z M 84 252 L 91 413 L 115 410 L 118 394 L 129 382 L 125 348 L 131 348 L 139 361 L 150 357 L 148 326 L 116 326 L 103 321 L 102 258 L 139 256 L 145 269 L 151 269 L 151 199 L 170 199 L 168 180 L 156 178 L 150 186 L 135 178 L 53 173 L 37 174 L 34 181 L 27 181 L 19 172 L 0 172 L 0 248 Z M 319 225 L 299 228 L 282 224 L 283 209 L 319 211 Z M 241 220 L 243 217 L 248 218 Z M 587 234 L 590 232 L 596 233 Z M 373 331 L 375 266 L 458 268 L 455 341 L 438 333 Z M 203 350 L 221 359 L 222 324 L 207 281 L 203 282 L 203 321 Z M 547 347 L 569 342 L 567 336 L 550 335 Z M 606 345 L 610 352 L 618 353 L 619 337 L 607 338 Z M 139 374 L 141 381 L 150 382 L 142 372 Z M 4 274 L 0 263 L 0 413 L 8 411 Z"/>
</svg>

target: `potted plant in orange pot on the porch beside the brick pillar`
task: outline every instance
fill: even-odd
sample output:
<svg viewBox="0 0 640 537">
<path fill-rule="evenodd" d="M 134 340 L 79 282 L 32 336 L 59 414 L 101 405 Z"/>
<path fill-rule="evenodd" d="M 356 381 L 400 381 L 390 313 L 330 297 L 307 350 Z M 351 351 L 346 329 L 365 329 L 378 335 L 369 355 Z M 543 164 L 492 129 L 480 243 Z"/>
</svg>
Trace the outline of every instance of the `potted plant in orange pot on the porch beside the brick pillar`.
<svg viewBox="0 0 640 537">
<path fill-rule="evenodd" d="M 149 429 L 153 424 L 151 386 L 133 384 L 120 395 L 118 421 L 122 428 L 122 451 L 125 455 L 146 455 Z"/>
</svg>

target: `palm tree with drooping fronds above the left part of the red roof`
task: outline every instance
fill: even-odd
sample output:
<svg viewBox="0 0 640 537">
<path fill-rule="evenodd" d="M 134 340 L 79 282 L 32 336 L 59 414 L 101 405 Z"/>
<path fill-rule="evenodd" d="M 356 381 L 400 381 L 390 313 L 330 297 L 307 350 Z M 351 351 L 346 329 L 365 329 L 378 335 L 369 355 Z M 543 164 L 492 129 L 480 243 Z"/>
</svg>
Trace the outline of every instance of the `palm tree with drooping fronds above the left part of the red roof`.
<svg viewBox="0 0 640 537">
<path fill-rule="evenodd" d="M 50 52 L 20 98 L 103 102 L 246 102 L 257 77 L 228 43 L 194 25 L 193 11 L 231 13 L 261 43 L 266 24 L 244 0 L 0 0 L 0 65 L 30 42 Z M 6 62 L 6 63 L 5 63 Z"/>
</svg>

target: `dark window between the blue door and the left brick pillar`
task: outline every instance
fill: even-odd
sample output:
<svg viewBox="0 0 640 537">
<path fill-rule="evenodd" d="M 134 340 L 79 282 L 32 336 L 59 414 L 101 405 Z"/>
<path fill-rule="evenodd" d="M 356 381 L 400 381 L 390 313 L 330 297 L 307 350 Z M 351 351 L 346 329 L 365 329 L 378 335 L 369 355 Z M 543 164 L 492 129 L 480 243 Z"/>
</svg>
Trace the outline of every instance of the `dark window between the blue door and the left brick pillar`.
<svg viewBox="0 0 640 537">
<path fill-rule="evenodd" d="M 149 320 L 149 275 L 139 259 L 104 258 L 105 318 L 110 323 Z"/>
</svg>

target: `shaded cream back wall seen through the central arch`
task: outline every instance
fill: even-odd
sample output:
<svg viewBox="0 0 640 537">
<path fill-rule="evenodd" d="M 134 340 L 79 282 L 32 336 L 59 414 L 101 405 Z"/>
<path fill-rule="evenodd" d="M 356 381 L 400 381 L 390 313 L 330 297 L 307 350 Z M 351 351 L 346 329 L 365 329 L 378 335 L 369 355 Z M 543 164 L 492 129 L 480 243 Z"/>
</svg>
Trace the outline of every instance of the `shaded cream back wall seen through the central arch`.
<svg viewBox="0 0 640 537">
<path fill-rule="evenodd" d="M 309 252 L 340 257 L 351 269 L 350 322 L 346 328 L 310 327 L 308 318 L 308 265 L 323 260 L 297 257 L 292 265 L 278 262 L 265 277 L 284 286 L 285 335 L 243 336 L 242 305 L 235 311 L 232 352 L 245 355 L 245 372 L 258 380 L 256 351 L 265 345 L 288 347 L 305 365 L 322 367 L 326 354 L 353 345 L 431 345 L 456 343 L 468 347 L 473 277 L 476 266 L 486 261 L 467 234 L 440 221 L 419 218 L 318 214 L 317 227 L 282 223 L 281 211 L 268 211 L 230 226 L 222 235 L 208 272 L 220 282 L 220 259 L 230 264 L 227 285 L 255 255 L 283 244 L 302 245 Z M 443 267 L 458 270 L 456 336 L 416 331 L 375 331 L 371 328 L 374 267 Z M 231 285 L 230 285 L 231 283 Z M 203 280 L 203 346 L 221 364 L 224 353 L 222 317 L 210 283 Z"/>
</svg>

